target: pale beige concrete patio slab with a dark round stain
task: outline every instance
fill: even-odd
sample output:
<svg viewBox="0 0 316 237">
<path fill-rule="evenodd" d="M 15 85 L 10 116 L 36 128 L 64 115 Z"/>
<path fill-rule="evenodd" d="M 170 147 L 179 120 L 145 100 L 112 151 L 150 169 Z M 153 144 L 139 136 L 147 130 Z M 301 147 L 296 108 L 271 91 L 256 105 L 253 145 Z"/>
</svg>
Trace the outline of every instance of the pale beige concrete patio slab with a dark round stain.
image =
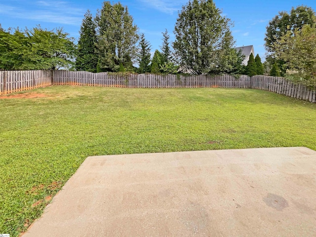
<svg viewBox="0 0 316 237">
<path fill-rule="evenodd" d="M 316 236 L 316 151 L 88 157 L 23 237 Z"/>
</svg>

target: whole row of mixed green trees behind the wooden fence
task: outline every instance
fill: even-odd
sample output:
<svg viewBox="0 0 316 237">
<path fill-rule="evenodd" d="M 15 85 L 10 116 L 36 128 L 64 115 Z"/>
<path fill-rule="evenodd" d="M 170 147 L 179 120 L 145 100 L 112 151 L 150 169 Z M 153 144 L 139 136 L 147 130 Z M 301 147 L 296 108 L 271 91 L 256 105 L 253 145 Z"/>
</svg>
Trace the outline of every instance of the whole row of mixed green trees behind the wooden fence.
<svg viewBox="0 0 316 237">
<path fill-rule="evenodd" d="M 151 57 L 152 46 L 127 6 L 104 1 L 82 20 L 78 43 L 62 29 L 3 30 L 0 69 L 59 69 L 89 72 L 246 74 L 284 76 L 316 84 L 316 14 L 308 6 L 279 12 L 267 26 L 266 62 L 234 49 L 231 20 L 212 0 L 189 0 L 179 11 L 175 40 L 167 30 Z M 138 67 L 135 67 L 137 65 Z"/>
</svg>

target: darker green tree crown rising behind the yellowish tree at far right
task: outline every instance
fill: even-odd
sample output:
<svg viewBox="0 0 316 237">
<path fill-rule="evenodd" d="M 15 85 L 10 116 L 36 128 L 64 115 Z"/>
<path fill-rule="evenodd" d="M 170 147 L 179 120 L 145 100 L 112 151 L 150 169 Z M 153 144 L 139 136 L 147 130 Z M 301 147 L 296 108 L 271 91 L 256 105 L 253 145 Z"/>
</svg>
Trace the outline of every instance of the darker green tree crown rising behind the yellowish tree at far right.
<svg viewBox="0 0 316 237">
<path fill-rule="evenodd" d="M 275 52 L 275 42 L 288 31 L 302 29 L 304 25 L 314 27 L 316 14 L 313 8 L 308 6 L 292 7 L 290 12 L 281 11 L 268 24 L 265 37 L 265 46 L 268 52 Z"/>
</svg>

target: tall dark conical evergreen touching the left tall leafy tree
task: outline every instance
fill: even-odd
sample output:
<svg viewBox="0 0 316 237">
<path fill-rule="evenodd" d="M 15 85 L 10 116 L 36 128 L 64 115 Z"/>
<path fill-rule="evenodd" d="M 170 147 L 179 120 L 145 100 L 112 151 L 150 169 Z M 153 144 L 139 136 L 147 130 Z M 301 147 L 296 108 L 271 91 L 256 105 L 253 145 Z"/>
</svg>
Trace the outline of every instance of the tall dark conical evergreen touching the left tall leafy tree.
<svg viewBox="0 0 316 237">
<path fill-rule="evenodd" d="M 97 71 L 98 56 L 96 55 L 96 24 L 88 10 L 84 14 L 80 27 L 78 40 L 78 52 L 76 59 L 76 70 L 95 73 Z"/>
</svg>

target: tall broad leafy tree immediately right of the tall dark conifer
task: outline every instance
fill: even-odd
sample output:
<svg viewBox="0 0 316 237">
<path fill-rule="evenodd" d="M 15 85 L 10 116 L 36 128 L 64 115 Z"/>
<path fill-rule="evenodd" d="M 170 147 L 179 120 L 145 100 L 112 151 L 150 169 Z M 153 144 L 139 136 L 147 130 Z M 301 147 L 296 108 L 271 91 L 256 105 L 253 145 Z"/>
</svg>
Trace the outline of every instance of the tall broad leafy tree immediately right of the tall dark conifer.
<svg viewBox="0 0 316 237">
<path fill-rule="evenodd" d="M 132 69 L 139 37 L 138 28 L 133 24 L 127 6 L 122 6 L 120 2 L 112 5 L 110 1 L 104 1 L 95 19 L 101 70 L 118 72 L 120 63 L 123 63 L 126 69 Z"/>
</svg>

